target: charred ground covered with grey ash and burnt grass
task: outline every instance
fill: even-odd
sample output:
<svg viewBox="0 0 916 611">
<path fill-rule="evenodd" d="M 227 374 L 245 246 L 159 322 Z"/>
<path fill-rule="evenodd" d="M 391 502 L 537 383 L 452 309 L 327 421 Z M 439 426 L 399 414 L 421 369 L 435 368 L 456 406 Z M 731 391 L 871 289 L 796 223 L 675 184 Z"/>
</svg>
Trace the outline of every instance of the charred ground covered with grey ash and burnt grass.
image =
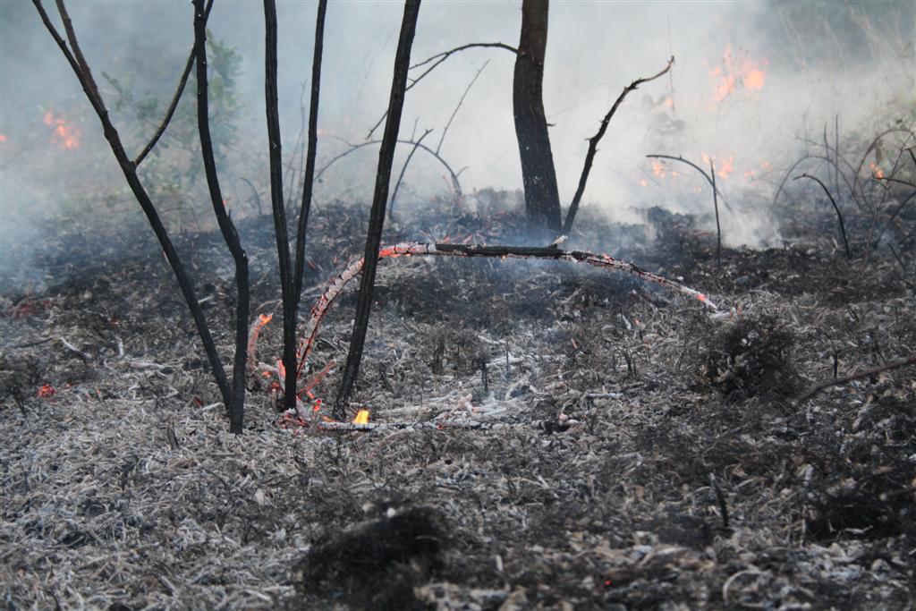
<svg viewBox="0 0 916 611">
<path fill-rule="evenodd" d="M 391 241 L 518 239 L 510 208 L 436 206 Z M 718 313 L 564 262 L 384 262 L 356 400 L 376 422 L 479 426 L 343 434 L 279 427 L 265 379 L 229 435 L 147 228 L 49 232 L 40 289 L 2 296 L 3 604 L 912 609 L 913 367 L 792 399 L 916 349 L 916 222 L 891 253 L 850 214 L 847 261 L 823 210 L 721 266 L 687 217 L 580 220 L 570 247 L 683 278 Z M 305 308 L 364 225 L 314 213 Z M 242 231 L 255 313 L 277 311 L 271 223 Z M 231 260 L 218 235 L 177 241 L 228 361 Z M 316 370 L 343 362 L 355 284 Z M 272 322 L 258 359 L 279 352 Z"/>
</svg>

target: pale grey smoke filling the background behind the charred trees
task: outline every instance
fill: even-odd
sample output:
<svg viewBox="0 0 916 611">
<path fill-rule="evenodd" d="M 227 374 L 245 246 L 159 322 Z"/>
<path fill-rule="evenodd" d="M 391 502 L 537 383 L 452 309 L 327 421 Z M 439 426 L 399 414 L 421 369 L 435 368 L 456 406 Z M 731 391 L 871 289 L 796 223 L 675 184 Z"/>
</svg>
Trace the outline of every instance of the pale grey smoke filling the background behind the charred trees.
<svg viewBox="0 0 916 611">
<path fill-rule="evenodd" d="M 52 3 L 45 5 L 57 22 Z M 139 102 L 158 101 L 153 115 L 161 117 L 191 49 L 191 4 L 74 1 L 69 7 L 115 123 L 136 154 L 155 121 L 139 120 L 130 104 L 115 104 L 119 96 L 103 75 L 114 77 Z M 303 88 L 311 74 L 315 8 L 312 2 L 278 2 L 285 158 L 300 134 L 302 104 L 308 104 Z M 515 0 L 426 2 L 412 59 L 469 42 L 514 46 L 519 9 Z M 401 14 L 402 5 L 394 2 L 329 5 L 319 167 L 345 150 L 345 143 L 362 142 L 382 115 Z M 212 39 L 235 49 L 240 60 L 237 131 L 223 143 L 221 178 L 230 201 L 247 202 L 250 191 L 240 178 L 258 188 L 267 184 L 262 5 L 217 0 L 209 27 Z M 3 0 L 0 28 L 0 271 L 6 278 L 14 267 L 27 265 L 43 220 L 101 211 L 130 217 L 137 207 L 79 83 L 34 6 Z M 914 39 L 911 2 L 555 2 L 544 104 L 562 202 L 572 199 L 586 138 L 622 88 L 660 71 L 673 55 L 671 75 L 631 93 L 613 118 L 583 205 L 620 220 L 638 219 L 653 205 L 709 213 L 708 187 L 698 175 L 685 166 L 653 167 L 645 155 L 682 155 L 706 167 L 712 159 L 735 211 L 724 217 L 726 244 L 773 243 L 778 238 L 769 220 L 773 182 L 802 155 L 808 146 L 803 138 L 820 140 L 824 125 L 832 134 L 837 117 L 841 143 L 854 132 L 874 136 L 898 119 L 912 126 Z M 442 144 L 442 157 L 453 169 L 466 168 L 465 193 L 521 187 L 513 61 L 504 49 L 468 49 L 408 93 L 401 135 L 410 136 L 416 122 L 418 135 L 435 130 L 426 141 L 433 146 L 465 87 L 486 64 Z M 318 187 L 318 201 L 341 194 L 368 200 L 376 150 L 367 147 L 338 162 Z M 199 185 L 188 163 L 189 180 Z M 407 177 L 415 201 L 446 191 L 442 173 L 430 158 L 415 158 Z M 193 190 L 188 197 L 185 205 L 209 207 Z"/>
</svg>

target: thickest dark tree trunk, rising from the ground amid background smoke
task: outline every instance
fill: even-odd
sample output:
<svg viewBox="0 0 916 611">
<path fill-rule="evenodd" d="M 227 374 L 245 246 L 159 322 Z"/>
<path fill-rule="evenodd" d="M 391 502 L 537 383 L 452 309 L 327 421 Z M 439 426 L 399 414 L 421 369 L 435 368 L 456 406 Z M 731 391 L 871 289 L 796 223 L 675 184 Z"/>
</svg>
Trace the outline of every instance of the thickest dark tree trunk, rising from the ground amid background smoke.
<svg viewBox="0 0 916 611">
<path fill-rule="evenodd" d="M 531 233 L 540 239 L 556 237 L 561 230 L 560 191 L 543 100 L 549 5 L 548 0 L 522 2 L 521 38 L 512 82 L 512 110 L 525 185 L 525 213 Z"/>
</svg>

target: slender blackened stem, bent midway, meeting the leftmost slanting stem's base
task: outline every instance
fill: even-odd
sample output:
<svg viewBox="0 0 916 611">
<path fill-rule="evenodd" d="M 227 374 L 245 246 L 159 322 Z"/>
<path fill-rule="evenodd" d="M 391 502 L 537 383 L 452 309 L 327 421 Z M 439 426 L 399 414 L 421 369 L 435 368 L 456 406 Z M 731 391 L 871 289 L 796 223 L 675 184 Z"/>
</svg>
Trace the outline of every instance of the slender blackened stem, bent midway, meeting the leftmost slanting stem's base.
<svg viewBox="0 0 916 611">
<path fill-rule="evenodd" d="M 213 140 L 210 136 L 209 94 L 207 82 L 207 24 L 203 0 L 194 0 L 194 55 L 197 59 L 197 125 L 201 136 L 203 171 L 210 191 L 213 214 L 235 264 L 235 355 L 233 359 L 232 398 L 228 406 L 229 431 L 241 433 L 245 423 L 245 358 L 248 342 L 248 256 L 238 232 L 226 213 L 220 181 L 216 173 Z"/>
</svg>

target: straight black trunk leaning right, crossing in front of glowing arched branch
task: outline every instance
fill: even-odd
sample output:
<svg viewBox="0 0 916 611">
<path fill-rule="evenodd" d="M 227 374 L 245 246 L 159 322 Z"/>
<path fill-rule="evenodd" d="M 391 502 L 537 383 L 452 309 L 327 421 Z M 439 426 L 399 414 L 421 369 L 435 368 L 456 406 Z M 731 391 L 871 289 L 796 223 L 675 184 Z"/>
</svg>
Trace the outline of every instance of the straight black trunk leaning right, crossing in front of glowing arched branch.
<svg viewBox="0 0 916 611">
<path fill-rule="evenodd" d="M 372 212 L 369 214 L 369 231 L 365 238 L 365 255 L 363 278 L 359 283 L 359 300 L 356 303 L 356 319 L 353 325 L 353 336 L 350 339 L 350 351 L 346 356 L 344 380 L 340 392 L 334 401 L 334 417 L 344 419 L 344 410 L 350 400 L 350 394 L 359 376 L 359 364 L 363 359 L 365 332 L 372 310 L 372 290 L 376 284 L 376 266 L 378 250 L 382 245 L 382 228 L 385 224 L 385 208 L 388 201 L 388 186 L 391 181 L 391 166 L 394 163 L 395 147 L 398 144 L 401 110 L 404 108 L 404 93 L 407 87 L 407 72 L 410 66 L 410 48 L 413 36 L 417 31 L 417 16 L 420 15 L 420 0 L 407 0 L 404 5 L 404 18 L 401 21 L 398 52 L 395 55 L 395 73 L 391 82 L 391 95 L 388 98 L 388 115 L 385 122 L 385 133 L 382 136 L 382 147 L 378 152 L 378 170 L 376 171 L 376 191 L 372 198 Z M 559 205 L 559 204 L 558 204 Z"/>
</svg>

